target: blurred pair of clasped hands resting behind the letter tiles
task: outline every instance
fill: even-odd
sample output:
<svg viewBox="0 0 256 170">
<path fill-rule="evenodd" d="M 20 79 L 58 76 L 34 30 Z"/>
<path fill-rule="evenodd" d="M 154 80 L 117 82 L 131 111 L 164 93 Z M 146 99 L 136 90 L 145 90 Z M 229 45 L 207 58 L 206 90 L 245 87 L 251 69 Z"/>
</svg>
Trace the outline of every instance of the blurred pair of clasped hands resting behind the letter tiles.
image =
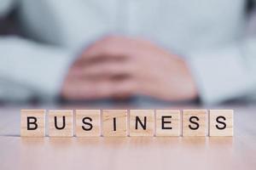
<svg viewBox="0 0 256 170">
<path fill-rule="evenodd" d="M 133 95 L 195 99 L 195 82 L 183 59 L 152 42 L 104 37 L 73 63 L 62 86 L 64 99 L 126 99 Z"/>
</svg>

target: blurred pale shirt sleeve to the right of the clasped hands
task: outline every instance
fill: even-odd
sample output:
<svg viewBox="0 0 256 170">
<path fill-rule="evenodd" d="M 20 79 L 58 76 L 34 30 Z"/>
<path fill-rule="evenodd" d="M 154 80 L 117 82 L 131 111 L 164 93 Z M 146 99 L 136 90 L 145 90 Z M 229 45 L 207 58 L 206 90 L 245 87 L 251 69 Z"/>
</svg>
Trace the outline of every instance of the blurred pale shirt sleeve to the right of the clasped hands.
<svg viewBox="0 0 256 170">
<path fill-rule="evenodd" d="M 256 92 L 256 38 L 187 55 L 204 104 L 252 96 Z"/>
</svg>

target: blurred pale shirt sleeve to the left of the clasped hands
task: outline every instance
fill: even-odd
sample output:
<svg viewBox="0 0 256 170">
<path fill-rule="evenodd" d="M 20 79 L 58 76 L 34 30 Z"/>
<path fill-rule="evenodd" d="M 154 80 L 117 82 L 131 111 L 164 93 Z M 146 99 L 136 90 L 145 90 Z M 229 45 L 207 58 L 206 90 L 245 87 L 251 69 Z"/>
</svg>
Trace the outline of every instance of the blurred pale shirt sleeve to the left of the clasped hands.
<svg viewBox="0 0 256 170">
<path fill-rule="evenodd" d="M 55 99 L 73 54 L 20 37 L 0 37 L 0 100 Z"/>
</svg>

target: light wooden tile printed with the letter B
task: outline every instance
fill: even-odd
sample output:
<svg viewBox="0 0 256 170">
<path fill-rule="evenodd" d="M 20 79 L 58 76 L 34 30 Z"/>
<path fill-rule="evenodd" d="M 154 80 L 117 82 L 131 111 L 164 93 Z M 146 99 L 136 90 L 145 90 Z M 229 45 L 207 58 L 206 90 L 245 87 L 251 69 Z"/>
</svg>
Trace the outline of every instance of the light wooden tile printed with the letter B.
<svg viewBox="0 0 256 170">
<path fill-rule="evenodd" d="M 20 136 L 45 136 L 45 110 L 20 111 Z"/>
</svg>

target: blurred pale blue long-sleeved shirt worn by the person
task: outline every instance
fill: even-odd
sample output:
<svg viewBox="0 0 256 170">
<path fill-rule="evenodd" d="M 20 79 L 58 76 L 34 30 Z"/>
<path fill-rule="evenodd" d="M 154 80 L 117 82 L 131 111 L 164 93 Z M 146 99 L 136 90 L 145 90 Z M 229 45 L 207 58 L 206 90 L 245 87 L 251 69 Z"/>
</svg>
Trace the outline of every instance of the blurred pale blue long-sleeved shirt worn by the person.
<svg viewBox="0 0 256 170">
<path fill-rule="evenodd" d="M 108 34 L 144 37 L 183 56 L 204 103 L 252 98 L 256 37 L 246 35 L 246 3 L 1 0 L 0 16 L 15 8 L 26 38 L 0 37 L 0 100 L 55 99 L 81 49 Z"/>
</svg>

